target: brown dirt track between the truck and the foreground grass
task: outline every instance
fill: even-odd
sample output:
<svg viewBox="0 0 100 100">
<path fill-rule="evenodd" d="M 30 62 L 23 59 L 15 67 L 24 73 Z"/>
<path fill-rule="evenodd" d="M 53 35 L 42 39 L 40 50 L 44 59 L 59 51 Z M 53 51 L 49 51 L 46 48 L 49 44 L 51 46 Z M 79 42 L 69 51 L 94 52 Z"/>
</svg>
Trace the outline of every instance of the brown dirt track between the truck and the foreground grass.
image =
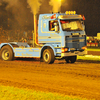
<svg viewBox="0 0 100 100">
<path fill-rule="evenodd" d="M 0 84 L 100 100 L 100 62 L 0 60 Z"/>
</svg>

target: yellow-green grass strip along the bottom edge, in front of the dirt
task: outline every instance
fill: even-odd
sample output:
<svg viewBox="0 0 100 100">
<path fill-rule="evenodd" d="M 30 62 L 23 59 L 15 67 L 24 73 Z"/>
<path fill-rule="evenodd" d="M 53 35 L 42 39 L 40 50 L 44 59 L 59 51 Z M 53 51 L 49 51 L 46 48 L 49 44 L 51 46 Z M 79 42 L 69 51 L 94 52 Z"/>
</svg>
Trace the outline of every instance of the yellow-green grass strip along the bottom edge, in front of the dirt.
<svg viewBox="0 0 100 100">
<path fill-rule="evenodd" d="M 87 100 L 80 97 L 64 96 L 28 89 L 0 85 L 0 100 Z"/>
</svg>

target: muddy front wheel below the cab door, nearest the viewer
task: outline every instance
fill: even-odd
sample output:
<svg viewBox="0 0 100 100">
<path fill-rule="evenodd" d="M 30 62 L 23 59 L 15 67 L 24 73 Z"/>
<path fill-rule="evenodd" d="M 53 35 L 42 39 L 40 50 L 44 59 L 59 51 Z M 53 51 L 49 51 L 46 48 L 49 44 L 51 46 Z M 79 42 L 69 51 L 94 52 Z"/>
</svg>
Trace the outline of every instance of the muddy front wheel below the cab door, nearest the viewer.
<svg viewBox="0 0 100 100">
<path fill-rule="evenodd" d="M 52 49 L 45 49 L 43 52 L 43 61 L 48 64 L 54 63 L 55 56 Z"/>
</svg>

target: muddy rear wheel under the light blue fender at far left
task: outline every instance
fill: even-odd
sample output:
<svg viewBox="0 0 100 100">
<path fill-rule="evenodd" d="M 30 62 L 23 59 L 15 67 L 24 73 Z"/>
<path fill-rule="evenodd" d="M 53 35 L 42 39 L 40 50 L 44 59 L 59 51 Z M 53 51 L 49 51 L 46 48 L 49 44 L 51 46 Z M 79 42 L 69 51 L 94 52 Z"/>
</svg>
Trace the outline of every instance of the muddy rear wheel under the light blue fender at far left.
<svg viewBox="0 0 100 100">
<path fill-rule="evenodd" d="M 1 48 L 1 59 L 5 61 L 11 61 L 14 59 L 14 53 L 12 51 L 12 48 L 9 45 L 6 45 Z"/>
</svg>

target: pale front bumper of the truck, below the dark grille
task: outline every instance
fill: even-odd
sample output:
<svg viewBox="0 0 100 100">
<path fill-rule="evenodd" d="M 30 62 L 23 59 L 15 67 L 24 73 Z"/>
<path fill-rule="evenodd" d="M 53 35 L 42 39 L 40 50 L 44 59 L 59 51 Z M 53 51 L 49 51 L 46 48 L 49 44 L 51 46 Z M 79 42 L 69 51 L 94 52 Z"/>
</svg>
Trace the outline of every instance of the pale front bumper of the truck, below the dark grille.
<svg viewBox="0 0 100 100">
<path fill-rule="evenodd" d="M 86 55 L 87 54 L 87 50 L 84 51 L 69 51 L 69 52 L 65 52 L 65 53 L 61 53 L 61 58 L 64 57 L 68 57 L 68 56 L 75 56 L 75 55 Z"/>
</svg>

